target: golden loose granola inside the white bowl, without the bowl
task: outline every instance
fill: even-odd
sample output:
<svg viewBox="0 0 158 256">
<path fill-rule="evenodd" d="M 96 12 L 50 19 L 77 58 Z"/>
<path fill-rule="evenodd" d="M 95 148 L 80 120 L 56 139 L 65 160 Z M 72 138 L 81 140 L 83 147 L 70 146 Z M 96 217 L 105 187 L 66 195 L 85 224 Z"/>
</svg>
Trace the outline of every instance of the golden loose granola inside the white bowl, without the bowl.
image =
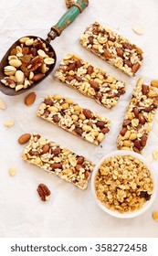
<svg viewBox="0 0 158 256">
<path fill-rule="evenodd" d="M 131 155 L 107 158 L 96 176 L 96 194 L 101 203 L 120 213 L 142 208 L 153 193 L 153 178 L 143 163 Z"/>
</svg>

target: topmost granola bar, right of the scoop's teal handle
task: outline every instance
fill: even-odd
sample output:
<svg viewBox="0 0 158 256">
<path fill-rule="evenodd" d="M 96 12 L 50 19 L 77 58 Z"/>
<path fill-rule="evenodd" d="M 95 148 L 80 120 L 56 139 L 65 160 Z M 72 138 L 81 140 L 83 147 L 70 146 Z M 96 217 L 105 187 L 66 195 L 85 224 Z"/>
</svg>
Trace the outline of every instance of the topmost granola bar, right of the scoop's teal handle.
<svg viewBox="0 0 158 256">
<path fill-rule="evenodd" d="M 142 49 L 98 22 L 86 29 L 80 37 L 80 43 L 131 77 L 142 66 Z"/>
</svg>

